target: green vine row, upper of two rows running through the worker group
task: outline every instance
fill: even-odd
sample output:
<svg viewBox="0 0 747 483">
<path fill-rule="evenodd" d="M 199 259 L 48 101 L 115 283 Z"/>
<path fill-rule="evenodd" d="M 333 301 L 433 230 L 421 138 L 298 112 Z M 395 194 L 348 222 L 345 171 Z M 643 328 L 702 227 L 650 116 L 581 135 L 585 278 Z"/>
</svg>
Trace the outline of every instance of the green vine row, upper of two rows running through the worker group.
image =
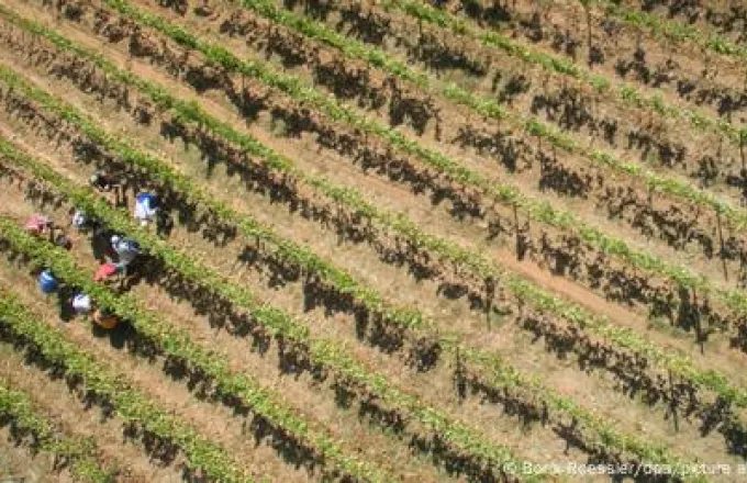
<svg viewBox="0 0 747 483">
<path fill-rule="evenodd" d="M 331 340 L 312 338 L 308 328 L 287 313 L 263 304 L 247 289 L 230 283 L 219 273 L 200 265 L 193 257 L 142 233 L 129 222 L 125 213 L 110 209 L 100 200 L 93 199 L 90 190 L 70 186 L 45 165 L 24 156 L 5 142 L 0 142 L 0 153 L 13 162 L 33 170 L 35 176 L 52 183 L 55 189 L 62 190 L 75 206 L 103 221 L 118 232 L 136 236 L 150 256 L 160 260 L 166 270 L 177 274 L 182 281 L 199 287 L 213 297 L 247 310 L 253 321 L 282 341 L 286 357 L 292 358 L 297 368 L 303 368 L 312 373 L 333 374 L 339 385 L 346 386 L 361 398 L 375 400 L 378 401 L 377 404 L 392 407 L 389 411 L 400 414 L 402 419 L 406 419 L 405 414 L 410 414 L 416 423 L 427 428 L 428 433 L 439 435 L 443 442 L 450 443 L 455 448 L 455 453 L 460 454 L 459 458 L 473 457 L 495 468 L 512 462 L 515 468 L 521 468 L 520 462 L 514 461 L 505 448 L 490 443 L 473 429 L 450 420 L 445 414 L 424 405 L 415 396 L 392 387 L 383 377 L 367 371 L 360 362 L 354 360 L 343 346 Z M 324 448 L 321 445 L 320 447 Z M 332 452 L 325 454 L 330 459 L 333 456 Z"/>
</svg>

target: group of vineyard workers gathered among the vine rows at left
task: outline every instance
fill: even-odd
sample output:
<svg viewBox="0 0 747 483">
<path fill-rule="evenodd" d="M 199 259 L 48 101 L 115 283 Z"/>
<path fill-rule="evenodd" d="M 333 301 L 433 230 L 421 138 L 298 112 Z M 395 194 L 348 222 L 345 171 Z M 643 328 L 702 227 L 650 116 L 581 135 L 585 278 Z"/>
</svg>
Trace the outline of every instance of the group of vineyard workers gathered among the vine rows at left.
<svg viewBox="0 0 747 483">
<path fill-rule="evenodd" d="M 118 191 L 121 187 L 107 173 L 97 172 L 90 179 L 91 186 L 101 192 Z M 146 227 L 155 223 L 158 213 L 158 198 L 148 192 L 142 192 L 135 196 L 134 217 L 141 226 Z M 126 277 L 129 267 L 141 255 L 141 247 L 137 240 L 127 238 L 119 234 L 109 236 L 97 220 L 90 217 L 81 210 L 76 210 L 73 214 L 70 225 L 79 233 L 89 233 L 93 237 L 107 236 L 107 250 L 104 261 L 93 273 L 93 281 L 97 283 L 108 283 L 119 277 Z M 47 216 L 42 214 L 33 215 L 25 224 L 26 233 L 36 237 L 48 235 L 51 242 L 58 247 L 69 250 L 73 247 L 70 238 L 64 234 L 63 229 L 55 225 Z M 37 279 L 38 288 L 45 295 L 57 293 L 62 283 L 51 268 L 44 268 Z M 103 328 L 114 328 L 119 324 L 119 318 L 105 307 L 97 307 L 91 296 L 81 290 L 76 290 L 69 299 L 64 301 L 67 308 L 73 314 L 90 316 L 91 319 Z"/>
</svg>

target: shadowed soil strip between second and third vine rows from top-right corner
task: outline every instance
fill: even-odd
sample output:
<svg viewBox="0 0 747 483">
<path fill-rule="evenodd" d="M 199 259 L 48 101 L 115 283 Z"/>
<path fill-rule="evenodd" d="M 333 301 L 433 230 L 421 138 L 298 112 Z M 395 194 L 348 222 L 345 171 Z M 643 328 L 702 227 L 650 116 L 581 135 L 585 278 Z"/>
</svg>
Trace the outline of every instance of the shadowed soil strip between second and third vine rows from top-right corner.
<svg viewBox="0 0 747 483">
<path fill-rule="evenodd" d="M 366 42 L 366 35 L 357 31 L 354 26 L 357 24 L 350 20 L 354 16 L 352 13 L 357 12 L 357 4 L 339 2 L 335 3 L 334 9 L 339 10 L 333 10 L 328 14 L 327 25 Z M 341 16 L 343 10 L 345 14 Z M 430 24 L 419 25 L 413 19 L 393 13 L 383 11 L 375 13 L 389 22 L 387 34 L 389 41 L 377 46 L 383 46 L 388 54 L 405 64 L 416 64 L 430 71 L 434 76 L 432 85 L 444 86 L 451 82 L 470 91 L 480 92 L 489 99 L 502 99 L 504 106 L 514 113 L 538 115 L 543 121 L 560 127 L 583 144 L 591 143 L 594 148 L 603 147 L 622 159 L 637 160 L 666 176 L 680 172 L 685 179 L 699 179 L 704 176 L 703 167 L 715 159 L 720 172 L 715 178 L 699 182 L 707 182 L 707 187 L 714 192 L 738 199 L 738 191 L 735 191 L 734 187 L 728 187 L 727 182 L 729 176 L 739 176 L 740 155 L 737 143 L 729 143 L 710 131 L 693 130 L 684 120 L 665 117 L 650 109 L 640 109 L 626 103 L 620 99 L 616 87 L 597 92 L 582 81 L 557 72 L 548 72 L 499 48 L 486 47 L 466 37 L 456 36 L 450 31 Z M 437 45 L 438 49 L 453 56 L 465 57 L 482 65 L 484 72 L 475 72 L 459 64 L 444 65 L 430 60 L 430 57 L 417 48 L 420 41 L 417 35 L 413 34 L 421 27 L 427 38 L 433 38 L 427 41 L 430 47 L 426 52 L 436 48 L 434 45 Z M 521 88 L 516 89 L 516 86 Z M 546 106 L 548 100 L 560 101 L 559 112 Z M 590 117 L 577 119 L 581 117 L 581 114 Z M 451 119 L 448 115 L 444 117 Z M 473 123 L 475 117 L 477 116 L 472 116 Z M 607 132 L 602 123 L 614 128 Z M 649 136 L 648 141 L 636 141 Z M 666 156 L 673 151 L 680 153 L 682 158 L 677 158 L 676 161 L 666 160 Z M 494 155 L 483 153 L 483 157 L 491 158 Z"/>
</svg>

